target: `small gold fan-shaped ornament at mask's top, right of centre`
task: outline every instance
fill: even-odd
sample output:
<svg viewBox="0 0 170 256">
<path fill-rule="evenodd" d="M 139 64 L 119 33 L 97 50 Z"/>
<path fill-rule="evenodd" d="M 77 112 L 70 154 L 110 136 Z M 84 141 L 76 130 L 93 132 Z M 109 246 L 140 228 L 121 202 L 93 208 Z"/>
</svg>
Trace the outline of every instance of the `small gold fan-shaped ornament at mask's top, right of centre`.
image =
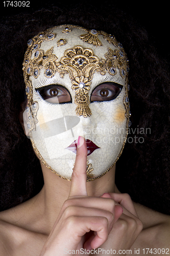
<svg viewBox="0 0 170 256">
<path fill-rule="evenodd" d="M 89 30 L 87 34 L 83 34 L 80 36 L 80 39 L 83 40 L 83 42 L 87 42 L 87 44 L 92 44 L 94 46 L 102 46 L 102 42 L 99 40 L 98 33 L 96 30 L 92 29 Z"/>
</svg>

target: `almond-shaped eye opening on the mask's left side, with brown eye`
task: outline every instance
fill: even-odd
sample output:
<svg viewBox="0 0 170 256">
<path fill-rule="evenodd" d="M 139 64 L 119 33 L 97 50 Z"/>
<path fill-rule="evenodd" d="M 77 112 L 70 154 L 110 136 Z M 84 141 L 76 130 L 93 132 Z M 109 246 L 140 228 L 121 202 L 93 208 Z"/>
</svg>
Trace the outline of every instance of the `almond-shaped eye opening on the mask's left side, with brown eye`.
<svg viewBox="0 0 170 256">
<path fill-rule="evenodd" d="M 40 88 L 35 88 L 41 98 L 52 104 L 72 103 L 71 95 L 67 88 L 60 84 L 48 84 Z"/>
</svg>

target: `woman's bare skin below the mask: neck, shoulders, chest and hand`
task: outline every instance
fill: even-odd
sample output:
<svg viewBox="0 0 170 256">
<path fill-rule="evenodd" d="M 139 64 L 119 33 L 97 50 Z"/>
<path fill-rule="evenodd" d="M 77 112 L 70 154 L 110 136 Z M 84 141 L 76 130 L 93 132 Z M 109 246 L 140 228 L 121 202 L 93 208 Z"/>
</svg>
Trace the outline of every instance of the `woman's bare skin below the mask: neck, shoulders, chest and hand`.
<svg viewBox="0 0 170 256">
<path fill-rule="evenodd" d="M 0 255 L 61 256 L 66 255 L 64 248 L 98 247 L 116 252 L 131 249 L 132 255 L 139 249 L 143 255 L 143 248 L 170 248 L 169 216 L 120 194 L 114 184 L 115 166 L 86 183 L 87 148 L 83 137 L 79 141 L 71 182 L 42 164 L 40 193 L 0 213 Z"/>
</svg>

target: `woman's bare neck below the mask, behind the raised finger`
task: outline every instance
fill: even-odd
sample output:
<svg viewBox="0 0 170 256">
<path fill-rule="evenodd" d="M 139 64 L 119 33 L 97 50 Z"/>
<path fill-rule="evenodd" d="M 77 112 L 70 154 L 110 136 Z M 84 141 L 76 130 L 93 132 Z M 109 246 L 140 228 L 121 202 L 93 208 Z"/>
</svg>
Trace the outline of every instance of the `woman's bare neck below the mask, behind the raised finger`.
<svg viewBox="0 0 170 256">
<path fill-rule="evenodd" d="M 59 215 L 61 207 L 67 200 L 70 189 L 70 181 L 60 178 L 54 174 L 46 166 L 41 164 L 44 186 L 40 193 L 35 197 L 37 209 L 43 212 L 45 220 L 48 224 L 54 225 Z M 104 193 L 113 193 L 115 191 L 115 165 L 100 179 L 87 182 L 88 196 L 100 197 Z"/>
</svg>

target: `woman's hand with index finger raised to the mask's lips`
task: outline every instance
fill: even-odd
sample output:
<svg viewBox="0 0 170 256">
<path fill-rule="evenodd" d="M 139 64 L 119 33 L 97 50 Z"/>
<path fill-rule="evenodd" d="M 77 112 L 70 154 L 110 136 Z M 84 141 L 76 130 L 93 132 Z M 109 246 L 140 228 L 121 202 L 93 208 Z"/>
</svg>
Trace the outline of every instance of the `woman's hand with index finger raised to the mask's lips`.
<svg viewBox="0 0 170 256">
<path fill-rule="evenodd" d="M 103 248 L 103 245 L 118 248 L 117 243 L 120 241 L 121 246 L 129 248 L 141 230 L 140 221 L 137 216 L 134 216 L 136 212 L 132 207 L 133 203 L 129 200 L 131 202 L 127 202 L 128 205 L 126 205 L 125 196 L 123 198 L 121 194 L 113 193 L 104 194 L 102 197 L 88 197 L 86 162 L 86 143 L 83 137 L 79 137 L 69 197 L 61 208 L 40 256 L 62 256 L 82 248 Z M 118 204 L 119 201 L 120 204 Z M 128 210 L 124 208 L 122 219 L 119 218 L 123 212 L 120 205 L 128 208 Z M 129 237 L 130 242 L 127 242 Z"/>
</svg>

